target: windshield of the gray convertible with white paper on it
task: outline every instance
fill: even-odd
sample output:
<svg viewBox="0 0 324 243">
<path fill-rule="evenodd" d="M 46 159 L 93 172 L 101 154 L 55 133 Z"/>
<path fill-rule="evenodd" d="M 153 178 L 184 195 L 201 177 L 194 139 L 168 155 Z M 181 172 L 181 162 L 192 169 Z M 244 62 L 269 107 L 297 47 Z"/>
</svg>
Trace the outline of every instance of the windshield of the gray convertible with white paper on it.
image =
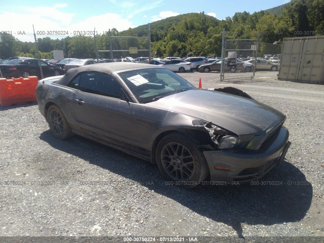
<svg viewBox="0 0 324 243">
<path fill-rule="evenodd" d="M 166 68 L 119 72 L 140 103 L 148 103 L 186 90 L 196 89 L 187 80 Z"/>
</svg>

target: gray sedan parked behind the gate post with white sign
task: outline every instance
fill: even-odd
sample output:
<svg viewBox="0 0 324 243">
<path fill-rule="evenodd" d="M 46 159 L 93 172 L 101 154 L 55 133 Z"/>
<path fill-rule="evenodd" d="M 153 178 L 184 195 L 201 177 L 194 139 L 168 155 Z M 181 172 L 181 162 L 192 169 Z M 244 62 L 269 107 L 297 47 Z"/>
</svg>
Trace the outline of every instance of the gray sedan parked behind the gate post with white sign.
<svg viewBox="0 0 324 243">
<path fill-rule="evenodd" d="M 221 64 L 222 60 L 216 60 L 212 63 L 208 63 L 205 65 L 200 65 L 198 67 L 199 72 L 210 72 L 210 71 L 221 71 Z M 246 71 L 246 72 L 251 72 L 252 71 L 252 64 L 251 63 L 244 63 L 240 60 L 236 60 L 236 66 L 227 66 L 227 59 L 224 60 L 224 66 L 223 70 L 225 72 L 236 72 L 236 71 Z"/>
</svg>

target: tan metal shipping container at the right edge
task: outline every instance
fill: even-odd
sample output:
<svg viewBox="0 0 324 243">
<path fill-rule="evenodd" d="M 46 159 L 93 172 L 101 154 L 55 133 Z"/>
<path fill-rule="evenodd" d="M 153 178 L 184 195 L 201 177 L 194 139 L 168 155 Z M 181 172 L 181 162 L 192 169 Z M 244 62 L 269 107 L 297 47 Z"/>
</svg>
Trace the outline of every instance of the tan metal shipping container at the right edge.
<svg viewBox="0 0 324 243">
<path fill-rule="evenodd" d="M 324 35 L 284 38 L 278 79 L 324 84 Z"/>
</svg>

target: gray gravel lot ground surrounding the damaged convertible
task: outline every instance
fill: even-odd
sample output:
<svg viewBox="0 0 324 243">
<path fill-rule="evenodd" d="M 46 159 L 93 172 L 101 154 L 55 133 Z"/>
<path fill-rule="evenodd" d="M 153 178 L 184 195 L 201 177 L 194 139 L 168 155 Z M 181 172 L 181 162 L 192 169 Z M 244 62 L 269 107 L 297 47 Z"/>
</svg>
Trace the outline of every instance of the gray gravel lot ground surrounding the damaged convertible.
<svg viewBox="0 0 324 243">
<path fill-rule="evenodd" d="M 180 75 L 241 89 L 285 113 L 292 145 L 284 163 L 259 185 L 181 189 L 141 159 L 54 138 L 35 103 L 0 107 L 0 235 L 324 236 L 324 86 L 262 73 L 224 82 L 219 73 Z"/>
</svg>

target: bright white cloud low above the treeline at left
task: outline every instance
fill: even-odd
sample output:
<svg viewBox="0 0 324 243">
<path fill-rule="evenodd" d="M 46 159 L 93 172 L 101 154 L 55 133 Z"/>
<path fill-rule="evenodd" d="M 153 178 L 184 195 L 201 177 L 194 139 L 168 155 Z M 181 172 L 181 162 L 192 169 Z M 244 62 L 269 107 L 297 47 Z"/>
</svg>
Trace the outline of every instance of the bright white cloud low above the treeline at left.
<svg viewBox="0 0 324 243">
<path fill-rule="evenodd" d="M 24 13 L 4 13 L 0 14 L 0 19 L 14 19 L 6 22 L 6 31 L 12 31 L 12 35 L 23 42 L 34 42 L 33 25 L 37 38 L 42 37 L 65 37 L 66 35 L 54 36 L 53 31 L 68 31 L 69 35 L 74 35 L 73 31 L 93 31 L 96 28 L 98 33 L 104 33 L 108 29 L 116 28 L 118 31 L 134 28 L 133 24 L 118 14 L 104 14 L 93 16 L 84 21 L 73 23 L 73 14 L 65 14 L 58 11 L 66 5 L 55 5 L 52 8 L 38 7 L 25 8 Z M 60 21 L 61 19 L 64 21 Z M 41 34 L 43 31 L 45 34 Z M 49 35 L 47 34 L 49 31 Z M 18 32 L 25 32 L 19 35 Z M 52 36 L 51 36 L 52 35 Z"/>
</svg>

